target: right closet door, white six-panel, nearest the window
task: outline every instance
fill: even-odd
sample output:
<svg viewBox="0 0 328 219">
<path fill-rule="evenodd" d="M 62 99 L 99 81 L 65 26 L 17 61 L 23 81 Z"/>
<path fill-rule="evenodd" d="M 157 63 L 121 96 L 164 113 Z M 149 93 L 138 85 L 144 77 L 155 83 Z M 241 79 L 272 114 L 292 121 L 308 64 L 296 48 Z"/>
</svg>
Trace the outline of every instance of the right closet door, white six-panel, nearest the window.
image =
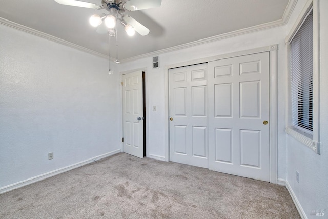
<svg viewBox="0 0 328 219">
<path fill-rule="evenodd" d="M 210 169 L 270 181 L 269 52 L 210 62 L 208 70 Z"/>
</svg>

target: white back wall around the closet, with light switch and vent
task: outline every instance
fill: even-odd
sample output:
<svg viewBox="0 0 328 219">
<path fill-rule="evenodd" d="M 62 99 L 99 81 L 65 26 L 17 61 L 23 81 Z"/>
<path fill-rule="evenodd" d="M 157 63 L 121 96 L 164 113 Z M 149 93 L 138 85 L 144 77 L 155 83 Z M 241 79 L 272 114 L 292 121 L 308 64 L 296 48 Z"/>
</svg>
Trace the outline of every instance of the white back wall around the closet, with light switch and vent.
<svg viewBox="0 0 328 219">
<path fill-rule="evenodd" d="M 152 57 L 123 63 L 120 71 L 148 68 L 148 99 L 149 99 L 149 153 L 165 157 L 165 70 L 166 65 L 211 57 L 220 54 L 254 49 L 272 44 L 279 44 L 278 50 L 278 177 L 286 178 L 286 135 L 285 129 L 285 26 L 221 39 L 216 42 L 201 44 L 178 51 L 159 55 L 160 68 L 152 69 Z M 157 111 L 152 111 L 152 106 Z"/>
</svg>

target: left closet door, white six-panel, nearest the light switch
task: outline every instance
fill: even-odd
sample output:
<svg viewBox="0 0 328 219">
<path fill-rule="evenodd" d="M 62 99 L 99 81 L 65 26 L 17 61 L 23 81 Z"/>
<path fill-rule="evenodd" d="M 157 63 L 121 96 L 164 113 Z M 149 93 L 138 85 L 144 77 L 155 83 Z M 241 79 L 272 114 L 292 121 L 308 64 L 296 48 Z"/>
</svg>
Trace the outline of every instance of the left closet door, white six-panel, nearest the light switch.
<svg viewBox="0 0 328 219">
<path fill-rule="evenodd" d="M 169 70 L 170 160 L 208 168 L 207 64 Z"/>
</svg>

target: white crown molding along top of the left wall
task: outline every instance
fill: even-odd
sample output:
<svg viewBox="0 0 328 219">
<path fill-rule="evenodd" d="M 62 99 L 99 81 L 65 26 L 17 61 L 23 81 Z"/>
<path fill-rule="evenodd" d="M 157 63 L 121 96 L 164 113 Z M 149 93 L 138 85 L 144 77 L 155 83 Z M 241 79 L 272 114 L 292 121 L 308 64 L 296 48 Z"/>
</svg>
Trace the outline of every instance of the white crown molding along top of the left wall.
<svg viewBox="0 0 328 219">
<path fill-rule="evenodd" d="M 42 37 L 42 38 L 45 38 L 45 39 L 49 39 L 50 41 L 60 43 L 62 45 L 65 45 L 65 46 L 68 46 L 68 47 L 71 47 L 73 49 L 77 49 L 77 50 L 80 50 L 80 51 L 83 51 L 83 52 L 87 52 L 87 53 L 92 54 L 92 55 L 100 56 L 100 57 L 103 57 L 103 58 L 108 58 L 108 55 L 101 54 L 101 53 L 96 52 L 94 50 L 85 48 L 83 46 L 79 46 L 77 44 L 73 44 L 71 42 L 65 41 L 64 39 L 61 39 L 61 38 L 55 37 L 53 35 L 50 35 L 50 34 L 47 34 L 47 33 L 44 33 L 44 32 L 29 28 L 29 27 L 26 27 L 24 25 L 17 24 L 15 22 L 9 21 L 9 20 L 7 20 L 5 18 L 2 18 L 2 17 L 0 17 L 0 24 L 3 24 L 3 25 L 6 25 L 6 26 L 9 26 L 9 27 L 24 31 L 26 33 L 30 33 L 30 34 Z"/>
</svg>

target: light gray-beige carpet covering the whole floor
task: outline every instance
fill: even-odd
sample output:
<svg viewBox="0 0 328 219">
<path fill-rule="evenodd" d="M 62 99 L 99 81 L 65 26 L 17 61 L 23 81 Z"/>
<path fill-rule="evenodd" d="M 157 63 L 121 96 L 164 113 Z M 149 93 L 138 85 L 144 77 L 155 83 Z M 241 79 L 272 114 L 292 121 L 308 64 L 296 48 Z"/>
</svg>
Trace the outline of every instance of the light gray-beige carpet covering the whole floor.
<svg viewBox="0 0 328 219">
<path fill-rule="evenodd" d="M 0 218 L 300 218 L 283 186 L 125 153 L 0 195 Z"/>
</svg>

